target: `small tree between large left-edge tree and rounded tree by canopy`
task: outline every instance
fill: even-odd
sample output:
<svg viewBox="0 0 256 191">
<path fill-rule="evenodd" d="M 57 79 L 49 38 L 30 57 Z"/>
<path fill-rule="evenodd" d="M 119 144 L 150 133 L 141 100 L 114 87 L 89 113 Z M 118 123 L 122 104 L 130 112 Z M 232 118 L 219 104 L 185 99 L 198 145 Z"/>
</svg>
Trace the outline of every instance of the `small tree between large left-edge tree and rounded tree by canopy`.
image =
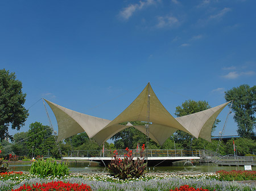
<svg viewBox="0 0 256 191">
<path fill-rule="evenodd" d="M 15 133 L 13 136 L 13 152 L 18 156 L 28 155 L 27 132 Z M 24 141 L 23 141 L 24 140 Z"/>
</svg>

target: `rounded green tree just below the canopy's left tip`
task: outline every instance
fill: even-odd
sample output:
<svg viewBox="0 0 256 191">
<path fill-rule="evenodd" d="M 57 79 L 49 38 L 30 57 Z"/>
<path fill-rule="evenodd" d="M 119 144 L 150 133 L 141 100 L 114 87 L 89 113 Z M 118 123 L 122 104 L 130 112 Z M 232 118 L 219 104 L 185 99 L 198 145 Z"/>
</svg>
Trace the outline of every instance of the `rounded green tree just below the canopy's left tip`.
<svg viewBox="0 0 256 191">
<path fill-rule="evenodd" d="M 51 137 L 52 130 L 47 125 L 42 125 L 40 122 L 34 122 L 30 124 L 30 129 L 28 130 L 28 139 L 27 139 L 27 147 L 30 155 L 47 155 L 48 147 L 47 145 L 52 142 L 47 141 L 49 137 Z M 47 141 L 47 142 L 46 142 Z"/>
</svg>

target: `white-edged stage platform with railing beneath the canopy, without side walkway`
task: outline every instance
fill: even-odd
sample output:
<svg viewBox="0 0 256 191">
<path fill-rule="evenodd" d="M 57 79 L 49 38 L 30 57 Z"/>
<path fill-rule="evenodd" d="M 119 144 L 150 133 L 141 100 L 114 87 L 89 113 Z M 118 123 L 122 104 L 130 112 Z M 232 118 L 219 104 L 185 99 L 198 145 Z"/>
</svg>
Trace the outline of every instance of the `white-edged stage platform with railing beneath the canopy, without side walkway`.
<svg viewBox="0 0 256 191">
<path fill-rule="evenodd" d="M 179 160 L 199 160 L 200 150 L 131 150 L 134 160 L 141 155 L 144 156 L 148 165 L 172 165 L 172 162 Z M 117 150 L 118 157 L 123 158 L 127 154 L 126 150 Z M 114 156 L 110 150 L 76 150 L 69 151 L 64 160 L 89 160 L 107 165 Z"/>
</svg>

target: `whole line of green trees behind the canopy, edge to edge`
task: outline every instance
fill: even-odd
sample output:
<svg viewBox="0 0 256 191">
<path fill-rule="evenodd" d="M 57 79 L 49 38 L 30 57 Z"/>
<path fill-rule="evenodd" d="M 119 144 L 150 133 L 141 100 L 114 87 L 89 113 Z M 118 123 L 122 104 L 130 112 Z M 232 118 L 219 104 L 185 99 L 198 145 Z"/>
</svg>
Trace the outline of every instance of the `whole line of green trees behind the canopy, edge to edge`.
<svg viewBox="0 0 256 191">
<path fill-rule="evenodd" d="M 51 128 L 40 122 L 30 124 L 27 132 L 16 133 L 13 136 L 9 134 L 8 129 L 19 130 L 28 117 L 28 110 L 24 108 L 26 94 L 22 92 L 22 83 L 16 79 L 14 73 L 8 70 L 0 70 L 0 149 L 2 155 L 13 153 L 19 156 L 33 157 L 37 155 L 53 156 L 60 158 Z M 234 120 L 237 123 L 237 133 L 240 138 L 235 140 L 238 155 L 246 155 L 256 150 L 255 142 L 255 122 L 256 122 L 256 86 L 250 87 L 242 84 L 225 92 L 226 101 L 233 100 L 232 111 Z M 176 107 L 175 115 L 181 117 L 187 114 L 209 109 L 207 101 L 186 100 L 183 104 Z M 130 121 L 133 125 L 143 125 L 141 121 Z M 219 120 L 213 125 L 216 128 Z M 6 141 L 10 139 L 11 142 Z M 146 143 L 146 135 L 131 127 L 120 131 L 111 138 L 111 143 L 105 143 L 105 149 L 136 149 L 138 143 Z M 191 135 L 176 131 L 174 135 L 167 139 L 162 145 L 158 145 L 150 140 L 149 149 L 208 149 L 216 150 L 218 141 L 209 143 L 204 139 L 196 139 Z M 68 155 L 71 150 L 100 150 L 93 139 L 89 139 L 86 133 L 80 133 L 65 139 L 60 143 L 63 155 Z M 233 153 L 233 140 L 222 143 L 219 152 L 222 155 Z"/>
</svg>

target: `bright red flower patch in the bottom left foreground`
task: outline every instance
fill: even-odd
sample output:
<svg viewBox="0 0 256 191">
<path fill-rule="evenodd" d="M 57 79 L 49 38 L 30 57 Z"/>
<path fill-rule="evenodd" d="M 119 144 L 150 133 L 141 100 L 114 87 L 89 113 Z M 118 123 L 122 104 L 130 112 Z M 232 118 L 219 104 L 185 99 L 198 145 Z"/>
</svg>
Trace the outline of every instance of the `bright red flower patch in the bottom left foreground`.
<svg viewBox="0 0 256 191">
<path fill-rule="evenodd" d="M 64 190 L 70 190 L 70 191 L 90 191 L 90 186 L 86 184 L 71 184 L 69 182 L 63 182 L 63 181 L 56 181 L 56 182 L 48 182 L 43 183 L 43 184 L 33 184 L 32 186 L 30 185 L 23 185 L 20 186 L 18 189 L 12 189 L 12 191 L 25 191 L 25 190 L 30 190 L 30 191 L 52 191 L 52 190 L 58 190 L 58 191 L 64 191 Z"/>
</svg>

